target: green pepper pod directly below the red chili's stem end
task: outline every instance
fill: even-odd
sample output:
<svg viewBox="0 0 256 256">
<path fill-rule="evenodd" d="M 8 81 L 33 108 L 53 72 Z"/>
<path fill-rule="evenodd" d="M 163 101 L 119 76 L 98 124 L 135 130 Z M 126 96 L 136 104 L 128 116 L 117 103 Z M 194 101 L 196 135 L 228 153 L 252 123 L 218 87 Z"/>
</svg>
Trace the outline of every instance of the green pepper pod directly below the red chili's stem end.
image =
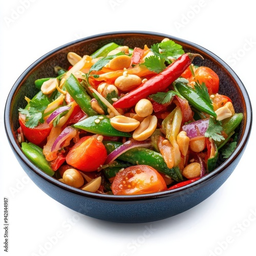
<svg viewBox="0 0 256 256">
<path fill-rule="evenodd" d="M 207 113 L 211 116 L 217 117 L 216 113 L 214 112 L 214 109 L 212 108 L 212 105 L 205 101 L 203 98 L 201 98 L 195 89 L 187 86 L 183 82 L 175 82 L 175 88 L 178 90 L 178 92 L 183 96 L 191 106 L 194 106 L 197 110 L 200 110 L 204 113 Z"/>
</svg>

